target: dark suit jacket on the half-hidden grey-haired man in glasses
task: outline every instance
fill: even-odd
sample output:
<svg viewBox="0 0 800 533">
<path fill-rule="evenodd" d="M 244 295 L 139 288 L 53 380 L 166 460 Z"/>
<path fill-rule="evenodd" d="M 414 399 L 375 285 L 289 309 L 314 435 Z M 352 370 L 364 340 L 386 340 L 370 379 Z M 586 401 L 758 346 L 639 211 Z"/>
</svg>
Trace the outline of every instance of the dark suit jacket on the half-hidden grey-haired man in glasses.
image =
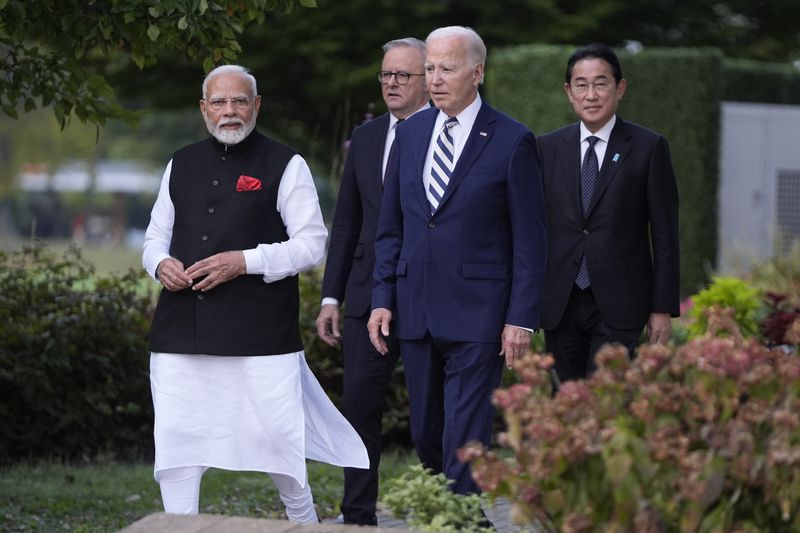
<svg viewBox="0 0 800 533">
<path fill-rule="evenodd" d="M 348 317 L 362 317 L 370 311 L 388 131 L 388 113 L 353 130 L 339 186 L 322 296 L 346 302 L 344 315 Z"/>
</svg>

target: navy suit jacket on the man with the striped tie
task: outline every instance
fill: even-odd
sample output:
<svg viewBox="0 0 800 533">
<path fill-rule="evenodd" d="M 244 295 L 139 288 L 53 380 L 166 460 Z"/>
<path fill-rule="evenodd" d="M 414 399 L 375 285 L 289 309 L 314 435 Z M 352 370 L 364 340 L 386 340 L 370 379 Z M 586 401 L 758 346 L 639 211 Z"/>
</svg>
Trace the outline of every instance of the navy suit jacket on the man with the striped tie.
<svg viewBox="0 0 800 533">
<path fill-rule="evenodd" d="M 375 242 L 372 307 L 405 340 L 500 342 L 539 326 L 547 243 L 533 133 L 482 103 L 431 215 L 422 172 L 437 109 L 397 128 Z"/>
</svg>

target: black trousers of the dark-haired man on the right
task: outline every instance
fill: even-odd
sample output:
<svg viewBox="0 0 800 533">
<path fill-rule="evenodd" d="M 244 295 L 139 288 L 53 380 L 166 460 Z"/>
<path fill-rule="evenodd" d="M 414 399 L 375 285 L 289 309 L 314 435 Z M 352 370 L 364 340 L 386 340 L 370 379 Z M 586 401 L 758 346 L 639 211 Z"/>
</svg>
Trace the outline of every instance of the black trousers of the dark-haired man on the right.
<svg viewBox="0 0 800 533">
<path fill-rule="evenodd" d="M 604 344 L 619 343 L 632 356 L 642 328 L 616 329 L 603 320 L 591 286 L 573 285 L 564 316 L 555 329 L 544 332 L 545 349 L 555 358 L 559 381 L 582 379 L 594 373 L 595 355 Z"/>
</svg>

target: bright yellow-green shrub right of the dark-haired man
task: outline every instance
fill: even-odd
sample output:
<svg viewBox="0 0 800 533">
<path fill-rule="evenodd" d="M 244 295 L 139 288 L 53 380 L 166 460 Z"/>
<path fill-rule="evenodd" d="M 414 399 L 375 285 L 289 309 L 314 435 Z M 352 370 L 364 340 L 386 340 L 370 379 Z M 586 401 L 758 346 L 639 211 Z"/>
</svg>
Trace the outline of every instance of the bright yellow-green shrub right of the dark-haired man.
<svg viewBox="0 0 800 533">
<path fill-rule="evenodd" d="M 759 332 L 760 291 L 745 280 L 732 276 L 714 276 L 711 284 L 691 298 L 689 338 L 699 337 L 708 329 L 707 311 L 712 307 L 734 310 L 739 332 L 752 337 Z"/>
</svg>

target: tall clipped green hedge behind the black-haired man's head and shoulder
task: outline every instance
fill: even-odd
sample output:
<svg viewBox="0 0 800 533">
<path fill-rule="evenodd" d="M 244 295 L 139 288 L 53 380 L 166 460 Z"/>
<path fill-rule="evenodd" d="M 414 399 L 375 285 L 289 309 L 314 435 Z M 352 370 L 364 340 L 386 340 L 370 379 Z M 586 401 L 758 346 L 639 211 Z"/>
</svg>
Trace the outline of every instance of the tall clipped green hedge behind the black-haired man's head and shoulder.
<svg viewBox="0 0 800 533">
<path fill-rule="evenodd" d="M 485 95 L 498 109 L 543 134 L 576 121 L 564 94 L 575 46 L 524 45 L 487 60 Z M 618 52 L 628 89 L 618 112 L 662 133 L 680 193 L 681 292 L 705 286 L 717 256 L 719 100 L 723 58 L 716 49 L 647 48 Z"/>
</svg>

